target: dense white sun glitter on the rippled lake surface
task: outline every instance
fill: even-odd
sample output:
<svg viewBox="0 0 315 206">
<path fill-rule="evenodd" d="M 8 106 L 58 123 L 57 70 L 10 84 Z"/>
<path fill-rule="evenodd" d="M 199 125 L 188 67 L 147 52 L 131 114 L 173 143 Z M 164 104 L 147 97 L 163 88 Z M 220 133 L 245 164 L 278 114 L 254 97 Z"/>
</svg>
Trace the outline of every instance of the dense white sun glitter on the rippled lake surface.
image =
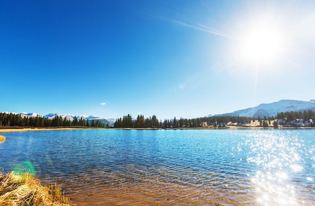
<svg viewBox="0 0 315 206">
<path fill-rule="evenodd" d="M 294 140 L 293 147 L 288 147 L 290 140 L 284 135 L 255 136 L 249 144 L 252 156 L 247 160 L 261 168 L 251 178 L 256 185 L 257 201 L 260 205 L 296 205 L 296 188 L 290 182 L 291 172 L 300 172 L 303 167 L 297 148 L 303 147 Z M 289 148 L 289 149 L 288 149 Z M 308 178 L 310 179 L 310 178 Z"/>
</svg>

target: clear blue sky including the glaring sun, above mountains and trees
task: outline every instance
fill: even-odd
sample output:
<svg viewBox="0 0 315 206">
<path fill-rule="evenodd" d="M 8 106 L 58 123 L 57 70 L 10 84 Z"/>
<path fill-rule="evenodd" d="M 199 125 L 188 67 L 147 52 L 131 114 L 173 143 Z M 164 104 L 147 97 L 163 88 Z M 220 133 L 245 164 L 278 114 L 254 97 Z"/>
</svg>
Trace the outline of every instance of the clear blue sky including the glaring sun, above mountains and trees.
<svg viewBox="0 0 315 206">
<path fill-rule="evenodd" d="M 314 1 L 0 5 L 0 111 L 194 118 L 315 99 Z"/>
</svg>

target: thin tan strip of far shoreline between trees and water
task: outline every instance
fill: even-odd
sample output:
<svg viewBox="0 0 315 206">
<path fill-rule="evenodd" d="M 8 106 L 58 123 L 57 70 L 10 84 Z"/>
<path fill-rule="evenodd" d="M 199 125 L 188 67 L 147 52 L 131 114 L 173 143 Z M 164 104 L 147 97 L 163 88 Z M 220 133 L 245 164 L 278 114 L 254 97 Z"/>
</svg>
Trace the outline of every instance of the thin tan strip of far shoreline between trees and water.
<svg viewBox="0 0 315 206">
<path fill-rule="evenodd" d="M 23 132 L 23 131 L 49 131 L 49 130 L 90 130 L 90 129 L 122 129 L 122 130 L 157 130 L 157 129 L 315 129 L 315 127 L 260 127 L 260 126 L 249 126 L 249 127 L 242 127 L 242 126 L 225 126 L 225 127 L 192 127 L 192 128 L 91 128 L 91 127 L 57 127 L 57 128 L 41 128 L 41 127 L 32 127 L 32 128 L 1 128 L 0 133 L 5 132 Z"/>
</svg>

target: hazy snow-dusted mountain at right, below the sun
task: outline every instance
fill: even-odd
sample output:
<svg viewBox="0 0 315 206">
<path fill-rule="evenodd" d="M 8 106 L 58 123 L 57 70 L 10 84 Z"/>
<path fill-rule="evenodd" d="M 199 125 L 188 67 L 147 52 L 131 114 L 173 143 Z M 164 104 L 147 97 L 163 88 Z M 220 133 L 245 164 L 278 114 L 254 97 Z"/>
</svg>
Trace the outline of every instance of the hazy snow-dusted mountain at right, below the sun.
<svg viewBox="0 0 315 206">
<path fill-rule="evenodd" d="M 256 107 L 233 111 L 231 113 L 216 114 L 213 116 L 248 116 L 248 117 L 268 117 L 276 116 L 278 112 L 315 110 L 315 100 L 280 100 L 269 104 L 260 104 Z"/>
</svg>

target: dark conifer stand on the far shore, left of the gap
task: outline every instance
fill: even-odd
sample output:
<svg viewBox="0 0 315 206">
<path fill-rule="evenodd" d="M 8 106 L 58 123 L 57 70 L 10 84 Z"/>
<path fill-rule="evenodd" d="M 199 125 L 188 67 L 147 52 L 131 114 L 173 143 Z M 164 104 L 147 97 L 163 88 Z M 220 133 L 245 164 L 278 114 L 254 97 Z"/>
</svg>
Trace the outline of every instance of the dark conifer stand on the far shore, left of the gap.
<svg viewBox="0 0 315 206">
<path fill-rule="evenodd" d="M 53 119 L 44 118 L 42 116 L 36 117 L 23 117 L 21 114 L 13 113 L 0 113 L 0 126 L 25 126 L 25 127 L 101 127 L 104 128 L 104 123 L 99 120 L 96 122 L 92 120 L 89 124 L 89 120 L 85 120 L 76 116 L 73 121 L 62 116 L 56 116 Z"/>
</svg>

